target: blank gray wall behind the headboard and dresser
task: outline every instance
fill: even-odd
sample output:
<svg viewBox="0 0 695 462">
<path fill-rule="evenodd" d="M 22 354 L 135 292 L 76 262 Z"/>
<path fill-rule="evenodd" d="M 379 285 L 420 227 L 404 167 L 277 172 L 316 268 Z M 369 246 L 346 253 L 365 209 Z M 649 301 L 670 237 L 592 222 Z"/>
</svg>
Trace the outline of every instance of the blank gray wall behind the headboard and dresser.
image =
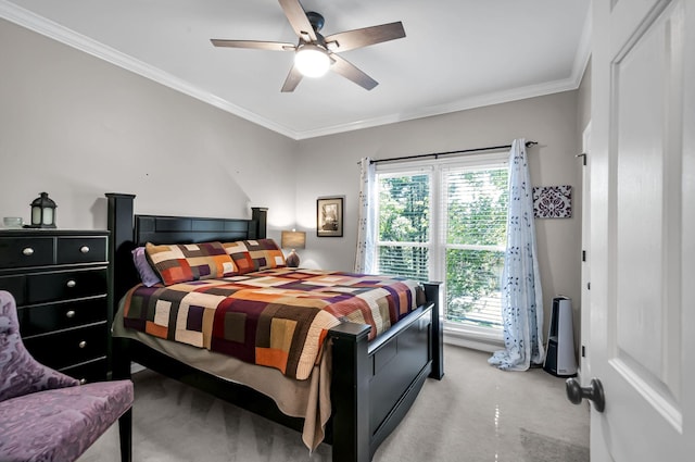
<svg viewBox="0 0 695 462">
<path fill-rule="evenodd" d="M 105 228 L 104 192 L 129 192 L 139 213 L 293 224 L 295 141 L 2 20 L 0 66 L 0 216 L 48 191 L 59 227 Z"/>
</svg>

